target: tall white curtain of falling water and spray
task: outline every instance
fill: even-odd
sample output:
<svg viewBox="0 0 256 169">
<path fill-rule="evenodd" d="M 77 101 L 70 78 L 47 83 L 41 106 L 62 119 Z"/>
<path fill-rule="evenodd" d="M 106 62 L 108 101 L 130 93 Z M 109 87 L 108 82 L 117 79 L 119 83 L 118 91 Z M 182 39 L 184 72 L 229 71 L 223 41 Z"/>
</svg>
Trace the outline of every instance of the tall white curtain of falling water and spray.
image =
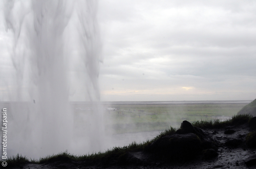
<svg viewBox="0 0 256 169">
<path fill-rule="evenodd" d="M 97 1 L 5 1 L 12 63 L 2 106 L 8 113 L 8 156 L 30 158 L 103 149 L 98 106 L 101 41 Z M 83 93 L 83 94 L 81 94 Z M 91 111 L 74 116 L 79 94 Z M 5 107 L 4 107 L 5 106 Z M 74 119 L 84 119 L 74 125 Z"/>
</svg>

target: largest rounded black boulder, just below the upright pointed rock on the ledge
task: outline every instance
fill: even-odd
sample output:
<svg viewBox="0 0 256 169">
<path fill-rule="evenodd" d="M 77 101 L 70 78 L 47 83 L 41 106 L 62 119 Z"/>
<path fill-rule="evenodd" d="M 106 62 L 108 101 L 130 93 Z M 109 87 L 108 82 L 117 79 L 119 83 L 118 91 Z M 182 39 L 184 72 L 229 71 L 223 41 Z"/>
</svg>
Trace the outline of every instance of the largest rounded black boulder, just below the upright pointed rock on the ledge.
<svg viewBox="0 0 256 169">
<path fill-rule="evenodd" d="M 148 148 L 157 157 L 191 159 L 202 151 L 201 140 L 194 133 L 172 134 L 154 141 Z"/>
</svg>

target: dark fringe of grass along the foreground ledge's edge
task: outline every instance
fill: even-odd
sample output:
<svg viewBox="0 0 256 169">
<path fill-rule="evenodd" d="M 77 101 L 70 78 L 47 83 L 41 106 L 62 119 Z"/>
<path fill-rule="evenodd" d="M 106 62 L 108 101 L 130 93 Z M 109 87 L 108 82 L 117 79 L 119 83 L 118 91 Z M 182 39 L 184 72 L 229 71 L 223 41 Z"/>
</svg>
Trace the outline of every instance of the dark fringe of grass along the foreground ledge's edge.
<svg viewBox="0 0 256 169">
<path fill-rule="evenodd" d="M 196 121 L 194 123 L 192 123 L 193 126 L 199 127 L 199 128 L 221 128 L 221 127 L 225 127 L 225 126 L 229 126 L 229 125 L 239 125 L 239 124 L 243 124 L 243 123 L 247 123 L 249 122 L 249 120 L 252 118 L 251 115 L 236 115 L 233 116 L 231 119 L 226 120 L 226 121 L 220 121 L 220 120 L 201 120 L 201 121 Z M 170 127 L 164 131 L 162 131 L 161 133 L 159 133 L 159 135 L 157 135 L 155 138 L 151 139 L 151 140 L 147 140 L 145 142 L 142 143 L 136 143 L 136 142 L 132 142 L 130 145 L 128 146 L 124 146 L 124 147 L 113 147 L 111 149 L 108 149 L 105 152 L 98 152 L 98 153 L 93 153 L 93 154 L 85 154 L 85 155 L 81 155 L 81 156 L 77 156 L 74 154 L 70 154 L 67 151 L 61 152 L 59 154 L 56 155 L 50 155 L 50 156 L 46 156 L 44 158 L 40 158 L 39 160 L 32 160 L 32 159 L 28 159 L 26 156 L 22 156 L 22 155 L 17 155 L 17 156 L 13 156 L 11 158 L 8 158 L 6 160 L 8 167 L 12 167 L 12 166 L 20 166 L 26 163 L 33 163 L 33 164 L 47 164 L 47 163 L 52 163 L 55 161 L 70 161 L 70 160 L 74 160 L 74 161 L 83 161 L 84 164 L 100 164 L 100 165 L 105 165 L 108 163 L 108 161 L 110 161 L 110 159 L 116 158 L 117 163 L 118 162 L 122 162 L 122 159 L 124 159 L 125 155 L 127 152 L 136 152 L 136 151 L 143 151 L 145 149 L 145 147 L 147 147 L 148 145 L 150 145 L 151 143 L 153 143 L 154 141 L 156 141 L 157 139 L 159 139 L 162 136 L 165 135 L 170 135 L 174 132 L 176 132 L 176 128 Z M 3 161 L 0 161 L 1 163 Z"/>
</svg>

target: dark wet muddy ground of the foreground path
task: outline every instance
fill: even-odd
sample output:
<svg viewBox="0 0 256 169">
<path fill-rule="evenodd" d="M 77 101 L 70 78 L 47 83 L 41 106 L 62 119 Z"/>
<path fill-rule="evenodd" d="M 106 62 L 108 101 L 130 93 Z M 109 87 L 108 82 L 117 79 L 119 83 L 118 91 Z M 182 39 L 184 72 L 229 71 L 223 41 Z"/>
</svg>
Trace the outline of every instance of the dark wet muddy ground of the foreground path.
<svg viewBox="0 0 256 169">
<path fill-rule="evenodd" d="M 235 130 L 233 134 L 224 134 L 225 130 Z M 186 160 L 180 162 L 163 162 L 163 161 L 150 161 L 148 160 L 148 154 L 144 152 L 130 152 L 130 158 L 133 160 L 129 162 L 129 165 L 116 165 L 112 163 L 111 166 L 93 165 L 86 166 L 84 162 L 77 161 L 55 161 L 47 164 L 26 164 L 19 167 L 14 167 L 15 169 L 160 169 L 160 168 L 173 168 L 173 169 L 211 169 L 211 168 L 232 168 L 232 169 L 254 169 L 256 165 L 248 166 L 245 164 L 244 160 L 254 154 L 256 154 L 256 149 L 250 149 L 245 144 L 246 134 L 253 131 L 249 128 L 248 124 L 243 124 L 239 126 L 229 126 L 228 128 L 221 129 L 203 129 L 207 137 L 212 138 L 218 144 L 218 156 L 212 158 L 211 160 L 204 160 L 203 156 L 198 156 L 193 160 Z M 231 147 L 225 145 L 225 142 L 231 139 L 240 139 L 242 143 L 237 147 Z M 128 160 L 129 160 L 128 159 Z M 146 163 L 134 163 L 134 159 L 138 161 L 147 161 Z"/>
</svg>

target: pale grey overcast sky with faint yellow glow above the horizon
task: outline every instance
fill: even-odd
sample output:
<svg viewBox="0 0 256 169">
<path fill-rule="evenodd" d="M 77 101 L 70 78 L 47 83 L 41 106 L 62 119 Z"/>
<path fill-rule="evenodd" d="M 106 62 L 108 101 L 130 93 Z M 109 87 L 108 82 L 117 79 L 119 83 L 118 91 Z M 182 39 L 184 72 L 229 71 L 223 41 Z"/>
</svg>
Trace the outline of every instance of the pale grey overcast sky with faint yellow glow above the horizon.
<svg viewBox="0 0 256 169">
<path fill-rule="evenodd" d="M 100 0 L 98 22 L 101 101 L 256 98 L 256 1 Z"/>
</svg>

